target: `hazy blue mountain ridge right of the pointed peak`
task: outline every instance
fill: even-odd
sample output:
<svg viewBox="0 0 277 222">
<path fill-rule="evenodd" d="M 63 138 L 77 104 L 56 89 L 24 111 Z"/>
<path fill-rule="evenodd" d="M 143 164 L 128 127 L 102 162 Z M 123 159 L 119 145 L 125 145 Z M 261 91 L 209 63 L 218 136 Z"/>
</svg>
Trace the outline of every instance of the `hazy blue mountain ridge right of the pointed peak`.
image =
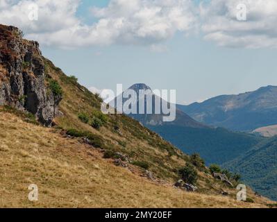
<svg viewBox="0 0 277 222">
<path fill-rule="evenodd" d="M 252 131 L 277 124 L 277 87 L 261 87 L 254 92 L 222 95 L 203 103 L 177 105 L 201 123 L 235 131 Z"/>
</svg>

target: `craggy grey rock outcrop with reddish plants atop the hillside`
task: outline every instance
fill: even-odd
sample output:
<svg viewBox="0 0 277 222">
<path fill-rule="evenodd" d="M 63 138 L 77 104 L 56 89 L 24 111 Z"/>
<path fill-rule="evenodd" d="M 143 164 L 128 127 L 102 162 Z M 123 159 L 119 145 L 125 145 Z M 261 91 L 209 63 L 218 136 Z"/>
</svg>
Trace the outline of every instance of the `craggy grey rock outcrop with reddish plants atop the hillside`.
<svg viewBox="0 0 277 222">
<path fill-rule="evenodd" d="M 0 25 L 0 105 L 31 112 L 51 126 L 60 100 L 47 87 L 39 44 L 24 40 L 18 28 Z"/>
</svg>

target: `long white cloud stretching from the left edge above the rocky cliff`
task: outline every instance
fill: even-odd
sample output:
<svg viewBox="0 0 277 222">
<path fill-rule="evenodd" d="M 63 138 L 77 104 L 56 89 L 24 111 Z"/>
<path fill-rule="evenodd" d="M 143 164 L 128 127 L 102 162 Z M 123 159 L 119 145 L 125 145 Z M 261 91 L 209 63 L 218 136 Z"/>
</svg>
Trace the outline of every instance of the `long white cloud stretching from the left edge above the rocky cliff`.
<svg viewBox="0 0 277 222">
<path fill-rule="evenodd" d="M 37 3 L 38 21 L 30 21 L 28 6 Z M 108 44 L 151 45 L 187 32 L 195 17 L 191 0 L 111 0 L 92 8 L 99 20 L 91 26 L 76 17 L 80 0 L 1 0 L 0 23 L 22 28 L 27 38 L 42 44 L 78 47 Z"/>
</svg>

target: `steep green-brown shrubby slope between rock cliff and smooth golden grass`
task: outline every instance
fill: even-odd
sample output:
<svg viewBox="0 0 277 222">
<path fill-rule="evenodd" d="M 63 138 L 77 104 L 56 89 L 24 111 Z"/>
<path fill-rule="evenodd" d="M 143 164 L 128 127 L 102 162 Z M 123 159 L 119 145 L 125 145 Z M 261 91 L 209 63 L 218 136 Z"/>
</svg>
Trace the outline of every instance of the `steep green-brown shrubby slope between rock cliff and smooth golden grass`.
<svg viewBox="0 0 277 222">
<path fill-rule="evenodd" d="M 176 179 L 176 169 L 185 164 L 187 155 L 138 121 L 124 115 L 107 115 L 107 122 L 98 130 L 90 123 L 83 123 L 78 118 L 79 114 L 85 114 L 90 119 L 101 115 L 101 99 L 79 85 L 74 78 L 63 74 L 49 60 L 45 60 L 45 65 L 47 76 L 58 81 L 62 87 L 63 99 L 59 105 L 62 117 L 54 120 L 58 128 L 88 131 L 100 138 L 101 148 L 146 162 L 149 170 L 159 178 Z"/>
</svg>

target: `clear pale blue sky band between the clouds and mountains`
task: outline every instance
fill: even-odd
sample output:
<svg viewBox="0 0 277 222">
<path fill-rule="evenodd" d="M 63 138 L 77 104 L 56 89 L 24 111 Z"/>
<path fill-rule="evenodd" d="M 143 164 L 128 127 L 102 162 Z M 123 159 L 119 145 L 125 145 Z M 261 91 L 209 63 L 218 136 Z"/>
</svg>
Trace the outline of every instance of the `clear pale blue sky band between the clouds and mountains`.
<svg viewBox="0 0 277 222">
<path fill-rule="evenodd" d="M 182 34 L 166 45 L 165 53 L 137 46 L 72 51 L 43 47 L 42 51 L 86 87 L 115 89 L 117 83 L 124 87 L 146 83 L 153 89 L 176 89 L 179 103 L 277 85 L 275 49 L 228 49 Z"/>
</svg>

